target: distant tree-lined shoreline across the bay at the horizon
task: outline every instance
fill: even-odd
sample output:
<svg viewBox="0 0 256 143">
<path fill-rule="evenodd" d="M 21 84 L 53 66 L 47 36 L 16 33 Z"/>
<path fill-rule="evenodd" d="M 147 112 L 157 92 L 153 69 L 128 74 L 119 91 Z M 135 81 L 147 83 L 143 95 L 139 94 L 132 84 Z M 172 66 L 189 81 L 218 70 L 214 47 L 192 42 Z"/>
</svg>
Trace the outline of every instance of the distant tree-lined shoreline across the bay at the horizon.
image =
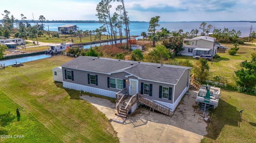
<svg viewBox="0 0 256 143">
<path fill-rule="evenodd" d="M 34 23 L 33 20 L 27 20 L 29 23 Z M 35 23 L 41 23 L 40 21 L 35 21 Z M 145 21 L 130 21 L 130 23 L 148 23 Z M 167 21 L 160 21 L 160 22 L 167 22 Z M 174 21 L 169 21 L 174 22 Z M 256 21 L 176 21 L 176 22 L 250 22 L 250 23 L 256 23 Z M 0 20 L 0 23 L 2 23 L 2 20 Z M 44 23 L 99 23 L 96 20 L 52 20 L 52 21 L 44 21 Z"/>
</svg>

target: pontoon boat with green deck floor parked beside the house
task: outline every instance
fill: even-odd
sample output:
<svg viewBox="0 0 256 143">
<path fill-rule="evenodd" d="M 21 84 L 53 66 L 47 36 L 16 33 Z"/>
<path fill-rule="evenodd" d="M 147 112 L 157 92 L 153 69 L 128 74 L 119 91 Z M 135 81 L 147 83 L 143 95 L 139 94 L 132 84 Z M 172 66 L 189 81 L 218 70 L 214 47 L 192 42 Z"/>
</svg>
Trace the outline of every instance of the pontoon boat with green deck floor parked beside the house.
<svg viewBox="0 0 256 143">
<path fill-rule="evenodd" d="M 216 108 L 219 104 L 220 88 L 212 85 L 201 85 L 197 93 L 196 103 L 202 104 L 201 110 Z"/>
</svg>

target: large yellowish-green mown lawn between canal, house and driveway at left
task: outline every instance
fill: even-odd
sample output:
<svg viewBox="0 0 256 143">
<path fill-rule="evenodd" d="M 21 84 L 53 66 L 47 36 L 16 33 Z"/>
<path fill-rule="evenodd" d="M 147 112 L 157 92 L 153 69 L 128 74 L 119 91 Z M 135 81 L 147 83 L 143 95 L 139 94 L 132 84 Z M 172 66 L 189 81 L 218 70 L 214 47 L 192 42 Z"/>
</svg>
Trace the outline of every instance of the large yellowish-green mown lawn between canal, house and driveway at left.
<svg viewBox="0 0 256 143">
<path fill-rule="evenodd" d="M 59 55 L 26 62 L 19 68 L 7 67 L 0 71 L 1 77 L 4 77 L 0 78 L 0 90 L 14 101 L 10 105 L 12 108 L 16 108 L 16 102 L 27 114 L 34 116 L 33 120 L 27 119 L 27 122 L 32 124 L 39 121 L 49 130 L 48 136 L 57 137 L 53 141 L 119 142 L 116 131 L 102 112 L 80 99 L 79 91 L 62 88 L 62 83 L 53 81 L 52 68 L 71 59 L 73 58 Z M 7 110 L 1 112 L 6 113 Z M 15 115 L 15 110 L 11 113 Z M 22 111 L 21 114 L 25 113 Z M 20 124 L 21 121 L 23 116 L 20 117 Z M 10 127 L 16 126 L 10 124 Z M 45 132 L 45 128 L 35 130 L 42 134 Z M 13 130 L 12 133 L 19 134 L 19 131 L 20 129 Z M 27 135 L 22 142 L 46 142 L 46 136 L 35 138 L 32 133 Z"/>
</svg>

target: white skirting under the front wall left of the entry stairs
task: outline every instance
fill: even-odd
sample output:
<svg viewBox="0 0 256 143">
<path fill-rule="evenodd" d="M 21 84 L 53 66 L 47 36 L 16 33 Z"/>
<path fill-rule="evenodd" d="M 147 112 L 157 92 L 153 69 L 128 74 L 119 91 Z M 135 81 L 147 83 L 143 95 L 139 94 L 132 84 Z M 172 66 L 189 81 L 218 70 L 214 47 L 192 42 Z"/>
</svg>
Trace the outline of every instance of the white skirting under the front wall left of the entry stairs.
<svg viewBox="0 0 256 143">
<path fill-rule="evenodd" d="M 63 81 L 63 87 L 116 98 L 116 92 Z"/>
</svg>

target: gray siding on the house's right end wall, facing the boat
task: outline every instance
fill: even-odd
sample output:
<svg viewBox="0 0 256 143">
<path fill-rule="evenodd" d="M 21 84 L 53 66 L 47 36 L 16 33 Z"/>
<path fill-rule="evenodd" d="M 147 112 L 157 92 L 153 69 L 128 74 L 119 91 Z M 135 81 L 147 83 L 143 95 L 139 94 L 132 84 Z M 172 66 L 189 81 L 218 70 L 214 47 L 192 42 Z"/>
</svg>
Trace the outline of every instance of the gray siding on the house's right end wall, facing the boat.
<svg viewBox="0 0 256 143">
<path fill-rule="evenodd" d="M 187 69 L 184 71 L 177 85 L 175 85 L 174 102 L 179 98 L 184 88 L 187 87 L 189 78 L 190 78 L 190 71 Z"/>
</svg>

